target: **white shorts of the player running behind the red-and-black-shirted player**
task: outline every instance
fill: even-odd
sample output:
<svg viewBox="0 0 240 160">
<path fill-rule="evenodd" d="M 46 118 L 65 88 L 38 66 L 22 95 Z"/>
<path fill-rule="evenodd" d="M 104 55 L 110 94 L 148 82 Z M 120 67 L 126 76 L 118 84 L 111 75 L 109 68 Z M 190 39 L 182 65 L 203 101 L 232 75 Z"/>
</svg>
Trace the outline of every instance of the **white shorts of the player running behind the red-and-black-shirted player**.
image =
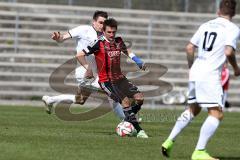
<svg viewBox="0 0 240 160">
<path fill-rule="evenodd" d="M 86 79 L 85 78 L 86 69 L 83 66 L 77 67 L 75 69 L 75 77 L 79 86 L 90 85 L 91 87 L 101 89 L 98 84 L 98 76 L 95 79 Z"/>
</svg>

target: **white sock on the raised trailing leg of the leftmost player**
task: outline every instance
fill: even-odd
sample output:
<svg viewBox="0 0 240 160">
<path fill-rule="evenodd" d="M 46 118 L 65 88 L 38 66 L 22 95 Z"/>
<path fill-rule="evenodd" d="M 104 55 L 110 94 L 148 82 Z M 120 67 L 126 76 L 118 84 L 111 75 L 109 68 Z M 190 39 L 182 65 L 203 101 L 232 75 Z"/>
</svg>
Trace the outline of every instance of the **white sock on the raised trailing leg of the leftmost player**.
<svg viewBox="0 0 240 160">
<path fill-rule="evenodd" d="M 49 99 L 50 103 L 59 103 L 59 102 L 65 102 L 65 103 L 75 103 L 75 95 L 71 94 L 61 94 L 58 96 L 52 96 Z"/>
</svg>

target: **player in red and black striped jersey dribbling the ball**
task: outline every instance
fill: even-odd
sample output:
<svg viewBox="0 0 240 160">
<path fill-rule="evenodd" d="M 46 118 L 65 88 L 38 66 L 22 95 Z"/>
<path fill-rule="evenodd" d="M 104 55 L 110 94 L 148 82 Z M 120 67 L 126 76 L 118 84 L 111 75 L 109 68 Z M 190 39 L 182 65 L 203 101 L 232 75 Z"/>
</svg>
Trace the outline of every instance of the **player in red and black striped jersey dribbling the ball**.
<svg viewBox="0 0 240 160">
<path fill-rule="evenodd" d="M 94 54 L 101 88 L 115 102 L 123 106 L 125 121 L 131 122 L 137 130 L 137 137 L 148 138 L 144 130 L 139 126 L 135 114 L 141 109 L 144 96 L 122 73 L 120 67 L 121 53 L 132 58 L 140 69 L 146 69 L 143 61 L 133 53 L 128 52 L 121 37 L 115 37 L 117 32 L 117 21 L 113 18 L 107 19 L 103 24 L 103 36 L 94 44 L 83 49 L 77 54 L 78 61 L 89 69 L 85 56 Z M 131 106 L 130 98 L 135 100 Z"/>
</svg>

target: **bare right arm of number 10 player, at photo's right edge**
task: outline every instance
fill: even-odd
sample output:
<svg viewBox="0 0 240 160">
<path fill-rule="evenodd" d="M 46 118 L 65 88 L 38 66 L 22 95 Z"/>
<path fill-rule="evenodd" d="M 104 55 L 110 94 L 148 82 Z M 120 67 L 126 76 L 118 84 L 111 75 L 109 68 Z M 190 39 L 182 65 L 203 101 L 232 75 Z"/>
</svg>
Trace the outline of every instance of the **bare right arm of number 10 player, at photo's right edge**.
<svg viewBox="0 0 240 160">
<path fill-rule="evenodd" d="M 235 56 L 235 50 L 231 46 L 226 46 L 225 47 L 225 55 L 227 56 L 227 59 L 229 63 L 233 67 L 234 75 L 239 76 L 240 75 L 240 68 L 237 64 L 236 56 Z"/>
</svg>

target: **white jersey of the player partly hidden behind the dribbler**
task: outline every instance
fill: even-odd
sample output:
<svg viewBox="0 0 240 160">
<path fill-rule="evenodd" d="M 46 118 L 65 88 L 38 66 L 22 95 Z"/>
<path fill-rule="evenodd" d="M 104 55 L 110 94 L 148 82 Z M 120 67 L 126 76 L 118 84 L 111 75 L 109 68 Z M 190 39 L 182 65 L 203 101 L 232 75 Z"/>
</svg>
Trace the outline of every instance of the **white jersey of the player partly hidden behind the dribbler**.
<svg viewBox="0 0 240 160">
<path fill-rule="evenodd" d="M 81 52 L 83 48 L 90 46 L 94 43 L 98 36 L 96 30 L 89 25 L 82 25 L 75 27 L 68 31 L 72 38 L 76 38 L 76 51 Z M 91 65 L 94 76 L 97 75 L 97 65 L 94 55 L 86 56 L 87 62 Z M 75 71 L 77 74 L 77 70 Z"/>
</svg>

